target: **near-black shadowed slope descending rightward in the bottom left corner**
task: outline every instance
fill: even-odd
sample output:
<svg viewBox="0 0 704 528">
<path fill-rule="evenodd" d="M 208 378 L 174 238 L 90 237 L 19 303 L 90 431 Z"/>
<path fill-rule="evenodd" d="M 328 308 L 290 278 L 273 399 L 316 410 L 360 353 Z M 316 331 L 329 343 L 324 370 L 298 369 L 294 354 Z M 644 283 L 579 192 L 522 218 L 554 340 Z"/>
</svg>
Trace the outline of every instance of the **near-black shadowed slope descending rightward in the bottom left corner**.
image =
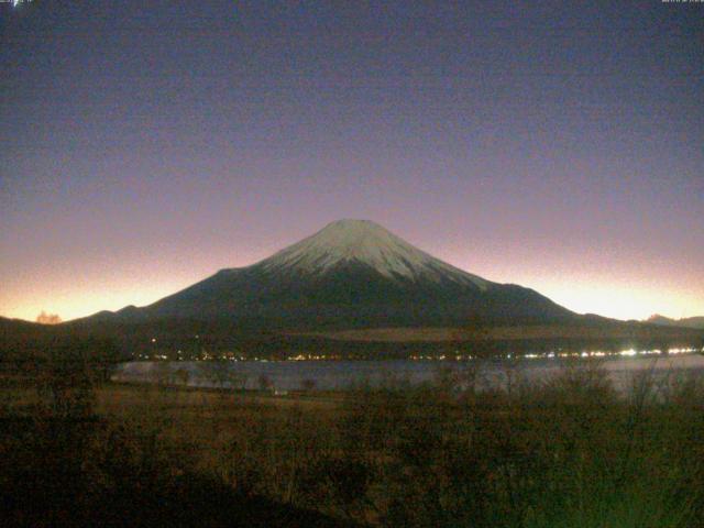
<svg viewBox="0 0 704 528">
<path fill-rule="evenodd" d="M 2 526 L 360 526 L 169 461 L 117 420 L 0 414 L 0 431 Z"/>
</svg>

